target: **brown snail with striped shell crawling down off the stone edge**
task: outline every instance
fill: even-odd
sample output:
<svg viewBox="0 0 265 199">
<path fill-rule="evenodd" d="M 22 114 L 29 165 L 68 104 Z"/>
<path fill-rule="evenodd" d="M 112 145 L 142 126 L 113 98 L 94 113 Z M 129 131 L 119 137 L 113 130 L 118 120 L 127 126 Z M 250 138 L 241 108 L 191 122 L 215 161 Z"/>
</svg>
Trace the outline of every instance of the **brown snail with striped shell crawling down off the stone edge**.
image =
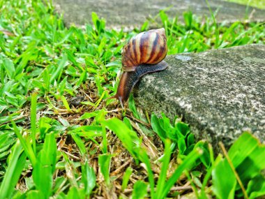
<svg viewBox="0 0 265 199">
<path fill-rule="evenodd" d="M 144 31 L 128 40 L 122 52 L 123 73 L 112 98 L 118 99 L 123 108 L 139 78 L 167 68 L 167 63 L 162 61 L 166 55 L 167 40 L 163 28 Z"/>
</svg>

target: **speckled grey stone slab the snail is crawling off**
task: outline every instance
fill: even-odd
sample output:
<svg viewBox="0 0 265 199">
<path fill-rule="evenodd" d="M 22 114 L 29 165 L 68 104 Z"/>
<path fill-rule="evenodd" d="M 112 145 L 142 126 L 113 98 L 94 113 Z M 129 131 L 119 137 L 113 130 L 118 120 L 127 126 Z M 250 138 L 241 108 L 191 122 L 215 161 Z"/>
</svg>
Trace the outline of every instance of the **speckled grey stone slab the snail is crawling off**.
<svg viewBox="0 0 265 199">
<path fill-rule="evenodd" d="M 134 90 L 149 112 L 182 116 L 197 139 L 228 147 L 243 131 L 265 138 L 265 45 L 170 55 Z"/>
</svg>

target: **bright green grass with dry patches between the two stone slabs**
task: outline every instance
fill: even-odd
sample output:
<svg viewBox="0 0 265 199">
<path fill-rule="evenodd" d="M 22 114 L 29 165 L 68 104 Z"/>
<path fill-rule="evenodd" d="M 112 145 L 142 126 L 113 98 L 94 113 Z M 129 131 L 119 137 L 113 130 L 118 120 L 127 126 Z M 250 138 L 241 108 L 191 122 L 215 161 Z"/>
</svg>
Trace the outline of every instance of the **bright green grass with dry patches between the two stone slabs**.
<svg viewBox="0 0 265 199">
<path fill-rule="evenodd" d="M 250 134 L 214 157 L 180 119 L 108 99 L 124 42 L 149 22 L 123 33 L 93 13 L 93 24 L 67 28 L 48 1 L 0 0 L 0 13 L 0 198 L 264 194 L 264 145 Z M 264 24 L 158 17 L 168 54 L 265 43 Z"/>
</svg>

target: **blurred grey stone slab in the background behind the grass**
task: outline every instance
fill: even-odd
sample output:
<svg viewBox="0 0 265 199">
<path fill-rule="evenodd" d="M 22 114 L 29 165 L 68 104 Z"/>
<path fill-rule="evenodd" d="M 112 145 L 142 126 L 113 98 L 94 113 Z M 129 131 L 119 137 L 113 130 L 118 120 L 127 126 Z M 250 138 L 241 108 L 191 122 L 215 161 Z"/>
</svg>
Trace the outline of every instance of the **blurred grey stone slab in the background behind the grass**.
<svg viewBox="0 0 265 199">
<path fill-rule="evenodd" d="M 218 12 L 219 22 L 235 22 L 250 16 L 252 21 L 265 21 L 265 10 L 239 5 L 222 0 L 53 0 L 59 13 L 63 13 L 66 24 L 84 25 L 91 23 L 91 12 L 96 12 L 107 20 L 106 26 L 112 28 L 140 27 L 147 17 L 154 17 L 159 10 L 167 9 L 169 17 L 179 17 L 183 21 L 183 12 L 191 10 L 198 16 Z"/>
</svg>

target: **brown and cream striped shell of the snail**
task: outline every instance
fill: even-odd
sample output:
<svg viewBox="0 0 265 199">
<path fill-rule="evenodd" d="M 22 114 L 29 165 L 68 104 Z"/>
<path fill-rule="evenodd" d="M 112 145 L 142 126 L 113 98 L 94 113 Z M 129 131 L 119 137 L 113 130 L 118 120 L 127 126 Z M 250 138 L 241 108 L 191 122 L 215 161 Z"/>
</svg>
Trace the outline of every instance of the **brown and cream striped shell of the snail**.
<svg viewBox="0 0 265 199">
<path fill-rule="evenodd" d="M 123 71 L 135 71 L 139 64 L 158 64 L 166 54 L 165 29 L 142 32 L 128 40 L 123 47 Z"/>
</svg>

